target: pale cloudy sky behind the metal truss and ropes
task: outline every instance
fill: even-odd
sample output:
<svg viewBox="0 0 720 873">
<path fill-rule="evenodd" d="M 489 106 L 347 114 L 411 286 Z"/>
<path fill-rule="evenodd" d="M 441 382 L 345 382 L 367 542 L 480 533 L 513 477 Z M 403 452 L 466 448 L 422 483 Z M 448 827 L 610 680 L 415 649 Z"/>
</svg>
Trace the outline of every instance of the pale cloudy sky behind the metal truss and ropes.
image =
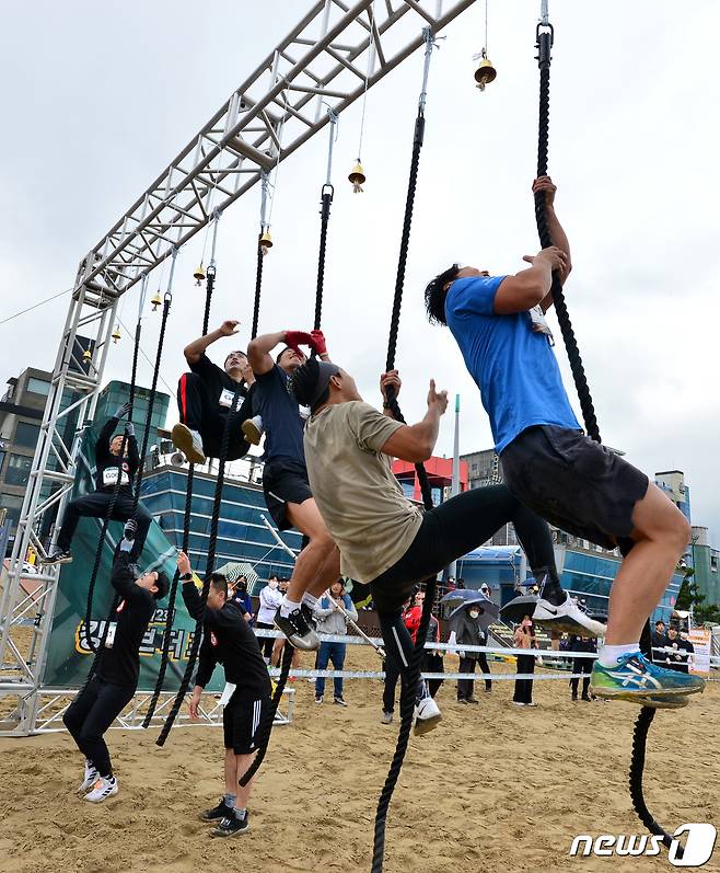
<svg viewBox="0 0 720 873">
<path fill-rule="evenodd" d="M 0 143 L 0 321 L 72 284 L 80 259 L 311 5 L 218 0 L 201 16 L 187 0 L 44 0 L 4 10 L 14 38 L 0 55 L 12 129 Z M 474 88 L 472 59 L 484 42 L 480 3 L 446 28 L 430 73 L 397 365 L 408 418 L 421 416 L 430 376 L 461 394 L 464 452 L 488 447 L 490 429 L 452 337 L 423 318 L 421 290 L 455 260 L 508 273 L 537 249 L 530 185 L 538 8 L 490 0 L 498 78 L 484 94 Z M 572 245 L 568 302 L 601 430 L 649 473 L 684 470 L 694 520 L 720 545 L 720 7 L 551 0 L 550 15 L 550 172 Z M 386 354 L 421 65 L 418 51 L 370 91 L 362 195 L 346 182 L 358 104 L 342 114 L 336 146 L 323 326 L 333 357 L 371 401 Z M 262 331 L 312 321 L 326 148 L 323 133 L 281 165 Z M 241 319 L 244 341 L 258 209 L 253 189 L 219 229 L 212 321 Z M 162 366 L 171 387 L 182 347 L 201 326 L 191 277 L 201 237 L 178 257 Z M 123 303 L 127 324 L 137 299 L 136 288 Z M 0 324 L 3 383 L 25 366 L 53 366 L 67 305 L 62 298 Z M 150 355 L 158 322 L 148 317 L 143 329 Z M 218 358 L 232 347 L 228 341 Z M 113 349 L 107 379 L 128 378 L 130 354 L 129 340 Z M 558 357 L 571 386 L 561 348 Z M 149 383 L 148 365 L 140 379 Z M 451 416 L 438 449 L 452 451 Z"/>
</svg>

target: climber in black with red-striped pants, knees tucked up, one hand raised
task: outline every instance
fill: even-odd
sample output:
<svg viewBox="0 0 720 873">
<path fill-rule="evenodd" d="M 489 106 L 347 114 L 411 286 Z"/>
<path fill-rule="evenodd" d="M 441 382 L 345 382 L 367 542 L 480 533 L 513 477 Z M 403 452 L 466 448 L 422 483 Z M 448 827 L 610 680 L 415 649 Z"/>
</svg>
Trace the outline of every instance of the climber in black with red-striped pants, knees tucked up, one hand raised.
<svg viewBox="0 0 720 873">
<path fill-rule="evenodd" d="M 252 416 L 251 391 L 255 377 L 244 352 L 231 352 L 223 367 L 218 367 L 206 355 L 206 349 L 225 336 L 237 333 L 239 321 L 228 320 L 211 333 L 194 340 L 184 349 L 190 372 L 184 372 L 177 386 L 177 406 L 181 421 L 173 427 L 173 444 L 190 463 L 205 463 L 207 458 L 218 458 L 225 420 L 235 392 L 243 398 L 237 413 L 237 425 L 230 434 L 229 461 L 247 453 L 249 445 L 242 425 Z"/>
</svg>

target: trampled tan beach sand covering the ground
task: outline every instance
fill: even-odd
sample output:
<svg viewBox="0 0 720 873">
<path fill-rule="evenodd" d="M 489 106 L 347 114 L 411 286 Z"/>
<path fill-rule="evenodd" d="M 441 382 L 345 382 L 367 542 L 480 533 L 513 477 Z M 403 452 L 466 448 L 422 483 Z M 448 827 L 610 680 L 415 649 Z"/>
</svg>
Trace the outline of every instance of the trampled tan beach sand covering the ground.
<svg viewBox="0 0 720 873">
<path fill-rule="evenodd" d="M 373 654 L 357 647 L 348 662 L 375 668 Z M 455 664 L 448 659 L 449 669 Z M 67 734 L 1 739 L 0 871 L 369 871 L 397 724 L 380 724 L 376 680 L 347 681 L 347 709 L 327 696 L 315 705 L 304 680 L 294 688 L 295 720 L 274 732 L 252 830 L 230 840 L 211 839 L 197 817 L 222 794 L 220 730 L 178 728 L 163 749 L 156 730 L 112 731 L 120 792 L 98 805 L 74 793 L 82 759 Z M 413 738 L 391 807 L 387 873 L 671 869 L 664 851 L 568 854 L 579 834 L 643 832 L 627 790 L 635 707 L 571 703 L 565 681 L 537 682 L 537 709 L 511 705 L 507 681 L 477 696 L 480 705 L 460 707 L 446 682 L 438 697 L 442 723 Z M 720 828 L 719 734 L 718 684 L 655 719 L 646 799 L 667 829 L 686 822 Z M 718 869 L 716 848 L 704 870 Z"/>
</svg>

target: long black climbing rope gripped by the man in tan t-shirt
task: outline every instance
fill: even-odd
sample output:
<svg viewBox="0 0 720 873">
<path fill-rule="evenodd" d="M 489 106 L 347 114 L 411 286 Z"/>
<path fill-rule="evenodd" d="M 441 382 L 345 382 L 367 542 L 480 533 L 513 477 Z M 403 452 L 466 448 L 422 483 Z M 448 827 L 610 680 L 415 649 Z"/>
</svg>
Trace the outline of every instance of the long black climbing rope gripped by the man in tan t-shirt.
<svg viewBox="0 0 720 873">
<path fill-rule="evenodd" d="M 410 226 L 413 222 L 413 208 L 415 205 L 415 191 L 417 187 L 418 168 L 420 162 L 420 149 L 422 148 L 422 138 L 425 134 L 425 104 L 427 96 L 428 73 L 430 70 L 430 58 L 434 46 L 434 38 L 430 28 L 423 31 L 425 36 L 425 68 L 422 76 L 422 90 L 420 92 L 420 100 L 418 103 L 418 114 L 415 120 L 415 134 L 413 137 L 413 158 L 410 160 L 410 174 L 407 185 L 407 197 L 405 200 L 405 218 L 403 221 L 403 234 L 400 238 L 400 251 L 397 262 L 397 276 L 395 280 L 395 297 L 393 299 L 393 312 L 390 325 L 390 338 L 387 342 L 387 359 L 385 361 L 385 370 L 392 370 L 395 367 L 395 353 L 397 349 L 397 334 L 399 330 L 400 307 L 403 303 L 403 289 L 405 285 L 405 268 L 407 264 L 407 253 L 410 242 Z M 393 417 L 405 423 L 403 413 L 397 404 L 397 398 L 394 390 L 386 390 L 387 404 L 390 405 Z M 418 482 L 420 483 L 420 491 L 422 493 L 422 503 L 426 509 L 432 509 L 432 491 L 428 474 L 422 463 L 416 463 Z M 385 854 L 385 828 L 387 823 L 387 812 L 390 803 L 393 797 L 393 792 L 397 784 L 397 780 L 403 768 L 405 753 L 410 737 L 410 730 L 413 727 L 413 715 L 415 710 L 415 696 L 418 684 L 420 681 L 420 665 L 425 650 L 425 641 L 428 635 L 428 625 L 430 623 L 430 616 L 432 613 L 432 605 L 436 595 L 436 577 L 432 576 L 426 582 L 426 597 L 422 604 L 422 614 L 420 618 L 420 627 L 418 628 L 415 648 L 413 657 L 410 658 L 407 681 L 403 684 L 400 692 L 400 728 L 397 736 L 397 745 L 395 754 L 387 771 L 385 784 L 381 791 L 378 801 L 378 809 L 375 812 L 375 826 L 374 826 L 374 840 L 372 853 L 372 873 L 381 873 L 383 869 L 383 859 Z"/>
</svg>

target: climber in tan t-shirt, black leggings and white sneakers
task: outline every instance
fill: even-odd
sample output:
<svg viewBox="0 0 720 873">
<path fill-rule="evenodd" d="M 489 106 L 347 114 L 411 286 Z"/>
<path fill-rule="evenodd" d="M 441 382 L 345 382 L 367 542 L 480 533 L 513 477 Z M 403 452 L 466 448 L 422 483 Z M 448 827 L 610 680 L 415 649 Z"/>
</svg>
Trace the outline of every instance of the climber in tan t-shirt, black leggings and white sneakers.
<svg viewBox="0 0 720 873">
<path fill-rule="evenodd" d="M 446 392 L 438 392 L 434 382 L 428 412 L 413 426 L 395 421 L 387 403 L 388 389 L 395 395 L 399 391 L 396 370 L 381 377 L 384 413 L 365 403 L 352 377 L 329 361 L 306 361 L 291 384 L 298 401 L 312 412 L 304 435 L 310 484 L 340 550 L 342 573 L 370 584 L 387 655 L 404 680 L 413 641 L 402 606 L 413 586 L 481 545 L 508 521 L 514 524 L 536 575 L 548 577 L 546 589 L 559 588 L 547 524 L 504 485 L 467 491 L 425 514 L 404 495 L 391 459 L 416 463 L 431 456 L 448 405 Z M 585 635 L 604 631 L 570 607 L 558 609 L 556 627 L 570 619 Z M 416 707 L 416 733 L 423 733 L 440 719 L 423 682 Z"/>
</svg>

